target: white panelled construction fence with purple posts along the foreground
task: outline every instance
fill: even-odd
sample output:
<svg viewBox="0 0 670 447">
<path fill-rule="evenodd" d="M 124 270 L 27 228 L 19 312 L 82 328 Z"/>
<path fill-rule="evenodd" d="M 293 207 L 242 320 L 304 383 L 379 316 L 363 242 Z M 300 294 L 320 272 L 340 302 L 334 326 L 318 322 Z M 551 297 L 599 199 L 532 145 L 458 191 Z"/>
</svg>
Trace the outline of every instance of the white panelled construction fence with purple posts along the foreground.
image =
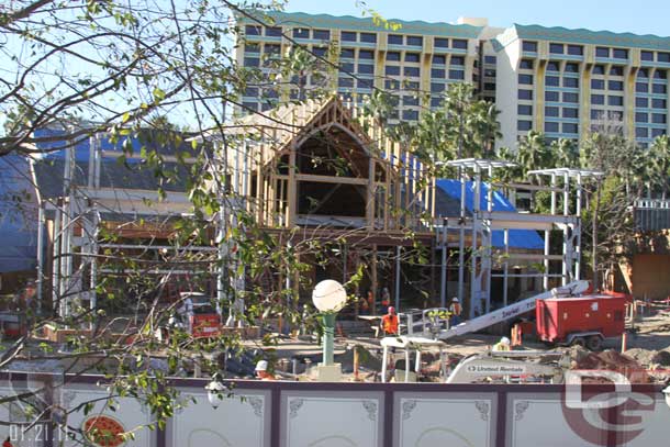
<svg viewBox="0 0 670 447">
<path fill-rule="evenodd" d="M 568 399 L 560 385 L 238 381 L 214 409 L 206 380 L 175 379 L 187 404 L 165 431 L 149 431 L 150 412 L 131 398 L 110 404 L 97 384 L 102 378 L 71 378 L 65 387 L 57 379 L 0 376 L 0 398 L 44 388 L 31 399 L 53 403 L 56 421 L 66 409 L 70 432 L 92 421 L 134 433 L 113 447 L 646 447 L 668 445 L 670 433 L 670 409 L 661 388 L 650 385 L 618 392 L 584 385 L 583 395 Z M 87 402 L 93 404 L 85 415 Z M 0 425 L 0 445 L 8 438 L 12 447 L 81 445 L 49 424 L 20 431 L 25 413 L 21 402 L 0 404 L 0 421 L 10 423 Z"/>
</svg>

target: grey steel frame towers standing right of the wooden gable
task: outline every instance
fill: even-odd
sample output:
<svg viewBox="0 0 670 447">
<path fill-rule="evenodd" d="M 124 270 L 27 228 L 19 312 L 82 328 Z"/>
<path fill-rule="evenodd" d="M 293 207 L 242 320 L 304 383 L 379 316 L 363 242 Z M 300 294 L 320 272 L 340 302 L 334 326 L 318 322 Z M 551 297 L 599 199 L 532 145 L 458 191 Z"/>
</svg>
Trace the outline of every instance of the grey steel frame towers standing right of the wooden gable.
<svg viewBox="0 0 670 447">
<path fill-rule="evenodd" d="M 543 289 L 549 289 L 551 278 L 560 278 L 562 286 L 573 280 L 579 280 L 581 258 L 581 202 L 583 180 L 589 177 L 602 176 L 602 172 L 557 168 L 533 170 L 529 174 L 536 176 L 549 176 L 551 185 L 534 186 L 524 183 L 494 183 L 493 172 L 495 169 L 504 169 L 516 166 L 510 161 L 466 158 L 448 161 L 447 166 L 458 168 L 460 181 L 460 216 L 458 219 L 445 219 L 436 228 L 436 246 L 442 249 L 442 288 L 440 303 L 446 305 L 446 281 L 447 281 L 447 250 L 449 247 L 458 247 L 458 298 L 467 303 L 469 317 L 491 312 L 491 279 L 503 279 L 503 306 L 509 304 L 509 280 L 510 278 L 541 278 Z M 472 179 L 472 211 L 467 215 L 467 180 Z M 485 182 L 487 193 L 482 198 L 482 182 Z M 558 187 L 558 180 L 562 179 L 562 186 Z M 576 213 L 570 213 L 571 182 L 576 180 Z M 551 193 L 551 208 L 549 214 L 518 213 L 510 211 L 496 211 L 493 206 L 494 188 L 506 188 L 511 190 L 528 189 L 534 191 L 548 191 Z M 557 212 L 559 193 L 562 193 L 562 211 Z M 544 232 L 544 250 L 541 254 L 514 253 L 510 250 L 510 231 L 529 230 Z M 551 254 L 551 231 L 562 231 L 562 249 L 560 254 Z M 503 232 L 503 262 L 502 273 L 493 273 L 493 247 L 492 232 Z M 457 243 L 449 243 L 449 234 L 457 234 Z M 468 235 L 470 241 L 468 244 Z M 454 238 L 451 238 L 454 241 Z M 469 248 L 469 261 L 466 255 Z M 512 260 L 541 261 L 543 269 L 537 272 L 510 273 Z M 552 273 L 550 261 L 561 261 L 561 272 Z M 466 269 L 470 272 L 470 294 L 466 299 Z"/>
</svg>

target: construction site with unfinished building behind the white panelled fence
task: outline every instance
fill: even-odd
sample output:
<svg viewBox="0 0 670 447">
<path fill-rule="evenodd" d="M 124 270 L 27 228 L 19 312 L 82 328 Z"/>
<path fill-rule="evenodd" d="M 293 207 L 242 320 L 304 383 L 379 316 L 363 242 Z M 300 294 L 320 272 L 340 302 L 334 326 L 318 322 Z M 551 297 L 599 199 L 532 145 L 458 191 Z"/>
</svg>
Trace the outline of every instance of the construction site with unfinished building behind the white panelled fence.
<svg viewBox="0 0 670 447">
<path fill-rule="evenodd" d="M 292 390 L 290 383 L 295 390 L 309 382 L 402 383 L 469 399 L 479 392 L 469 385 L 531 387 L 533 392 L 532 387 L 547 385 L 541 392 L 556 392 L 585 376 L 593 383 L 665 388 L 670 380 L 668 290 L 661 295 L 606 290 L 603 284 L 615 281 L 593 287 L 583 278 L 582 194 L 603 172 L 540 169 L 528 175 L 541 181 L 501 182 L 501 172 L 513 163 L 464 158 L 443 166 L 456 178 L 437 178 L 407 147 L 358 113 L 332 98 L 279 108 L 272 120 L 242 119 L 241 128 L 257 135 L 244 134 L 241 149 L 212 168 L 224 169 L 225 194 L 234 200 L 202 224 L 204 237 L 178 246 L 177 222 L 191 215 L 185 185 L 170 183 L 159 198 L 153 179 L 129 175 L 115 161 L 121 153 L 104 135 L 59 158 L 31 160 L 37 276 L 2 312 L 5 337 L 30 340 L 12 373 L 88 372 L 91 365 L 118 369 L 129 359 L 104 354 L 85 361 L 31 357 L 45 344 L 67 353 L 72 337 L 114 343 L 126 337 L 124 343 L 132 344 L 147 336 L 141 328 L 146 315 L 169 309 L 169 322 L 149 337 L 159 344 L 169 345 L 183 333 L 198 340 L 239 339 L 236 349 L 203 354 L 186 348 L 177 369 L 167 348 L 156 345 L 146 354 L 152 370 L 171 375 L 187 388 L 239 381 L 241 389 L 254 389 L 246 380 L 258 378 L 281 383 L 271 385 L 280 393 Z M 210 145 L 212 154 L 222 145 L 216 138 L 200 143 Z M 160 147 L 164 163 L 186 177 L 180 149 Z M 187 157 L 186 163 L 193 160 Z M 547 194 L 548 213 L 515 208 L 518 198 L 537 192 Z M 235 254 L 236 244 L 252 235 L 221 237 L 239 231 L 239 213 L 252 216 L 257 234 L 270 235 L 283 248 L 316 242 L 323 253 L 295 255 L 306 266 L 300 272 L 268 267 L 250 275 Z M 138 270 L 137 264 L 124 262 L 129 258 L 146 264 Z M 206 268 L 203 259 L 210 259 Z M 225 271 L 223 259 L 232 259 L 234 268 Z M 142 281 L 158 284 L 150 295 L 133 288 L 138 272 Z M 298 323 L 281 313 L 248 319 L 250 291 L 279 299 L 290 291 L 294 300 L 287 305 L 303 317 Z M 26 333 L 29 309 L 37 315 L 53 312 L 64 322 L 82 309 L 99 317 Z M 135 364 L 142 365 L 132 360 L 125 367 Z M 457 388 L 421 388 L 428 383 Z M 347 390 L 355 391 L 331 391 Z M 503 405 L 496 395 L 495 405 Z M 654 395 L 665 399 L 661 392 Z M 372 404 L 364 401 L 370 421 L 378 421 Z M 487 402 L 476 401 L 482 421 L 493 417 Z M 288 405 L 292 415 L 302 404 Z M 403 414 L 412 412 L 406 402 L 398 405 Z M 521 421 L 523 412 L 514 406 L 496 417 Z M 275 413 L 273 421 L 286 417 Z M 179 443 L 180 435 L 169 436 Z M 160 439 L 146 445 L 166 445 Z M 359 445 L 382 445 L 377 439 Z"/>
</svg>

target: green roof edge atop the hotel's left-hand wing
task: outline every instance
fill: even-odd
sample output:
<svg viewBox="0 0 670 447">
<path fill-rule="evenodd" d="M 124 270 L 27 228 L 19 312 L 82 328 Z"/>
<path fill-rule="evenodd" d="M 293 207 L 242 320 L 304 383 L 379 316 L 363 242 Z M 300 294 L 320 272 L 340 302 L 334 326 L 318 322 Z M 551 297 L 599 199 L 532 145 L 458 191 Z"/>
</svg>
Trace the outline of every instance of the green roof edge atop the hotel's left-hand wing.
<svg viewBox="0 0 670 447">
<path fill-rule="evenodd" d="M 339 29 L 351 31 L 382 31 L 399 34 L 423 34 L 448 37 L 477 38 L 481 31 L 481 26 L 473 25 L 454 25 L 450 23 L 429 23 L 424 21 L 404 21 L 398 19 L 387 19 L 389 23 L 398 23 L 401 25 L 397 31 L 387 29 L 382 25 L 378 26 L 372 21 L 372 18 L 355 18 L 353 15 L 335 16 L 330 14 L 306 14 L 304 12 L 280 12 L 280 11 L 247 11 L 249 14 L 257 16 L 261 21 L 271 19 L 276 25 L 283 26 L 305 26 L 305 27 L 324 27 Z M 237 14 L 237 20 L 245 24 L 257 24 L 253 20 Z"/>
</svg>

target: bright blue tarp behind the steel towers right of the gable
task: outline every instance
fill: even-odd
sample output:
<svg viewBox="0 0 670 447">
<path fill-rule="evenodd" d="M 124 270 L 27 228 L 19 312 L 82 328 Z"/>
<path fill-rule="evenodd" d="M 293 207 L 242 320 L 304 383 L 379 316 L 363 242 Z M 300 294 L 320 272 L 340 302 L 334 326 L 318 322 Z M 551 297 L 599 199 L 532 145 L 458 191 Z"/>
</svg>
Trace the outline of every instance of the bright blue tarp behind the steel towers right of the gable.
<svg viewBox="0 0 670 447">
<path fill-rule="evenodd" d="M 446 194 L 454 198 L 460 203 L 460 181 L 453 179 L 438 179 L 436 182 L 437 187 L 443 190 Z M 482 182 L 480 191 L 479 204 L 480 209 L 488 209 L 488 193 L 489 186 Z M 474 198 L 474 182 L 466 182 L 466 208 L 469 212 L 472 212 L 472 204 Z M 516 212 L 516 209 L 510 203 L 506 197 L 500 191 L 493 191 L 493 211 L 509 211 Z M 504 247 L 504 234 L 502 231 L 494 231 L 492 234 L 492 243 L 494 247 Z M 533 230 L 510 230 L 510 247 L 525 248 L 525 249 L 543 249 L 545 243 L 539 234 Z"/>
</svg>

